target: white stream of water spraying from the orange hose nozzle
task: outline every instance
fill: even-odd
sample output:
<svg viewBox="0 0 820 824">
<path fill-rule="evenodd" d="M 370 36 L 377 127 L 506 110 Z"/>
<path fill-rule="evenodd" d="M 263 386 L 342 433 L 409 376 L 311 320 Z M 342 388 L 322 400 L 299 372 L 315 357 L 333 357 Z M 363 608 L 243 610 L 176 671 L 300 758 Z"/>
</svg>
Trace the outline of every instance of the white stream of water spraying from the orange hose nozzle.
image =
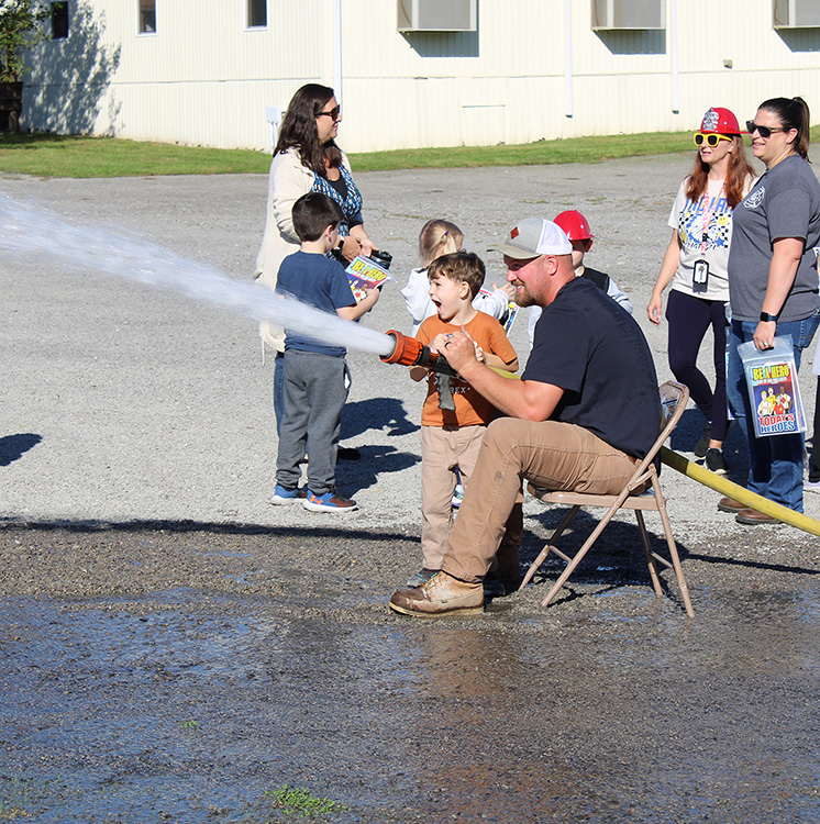
<svg viewBox="0 0 820 824">
<path fill-rule="evenodd" d="M 258 283 L 232 280 L 204 264 L 125 232 L 73 225 L 40 208 L 0 194 L 0 257 L 21 263 L 52 260 L 77 271 L 96 270 L 158 289 L 170 289 L 200 303 L 326 344 L 375 355 L 394 350 L 394 338 L 291 298 L 280 298 Z"/>
</svg>

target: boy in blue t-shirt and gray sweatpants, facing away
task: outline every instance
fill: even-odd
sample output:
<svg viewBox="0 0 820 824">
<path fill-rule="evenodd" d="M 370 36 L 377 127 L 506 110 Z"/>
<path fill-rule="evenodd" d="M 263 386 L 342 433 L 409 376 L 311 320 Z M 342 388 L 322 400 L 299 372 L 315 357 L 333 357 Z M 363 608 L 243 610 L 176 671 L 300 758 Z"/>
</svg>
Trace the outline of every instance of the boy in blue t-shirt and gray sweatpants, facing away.
<svg viewBox="0 0 820 824">
<path fill-rule="evenodd" d="M 326 194 L 309 192 L 293 204 L 293 227 L 301 241 L 299 252 L 279 267 L 278 294 L 355 321 L 379 299 L 369 289 L 356 303 L 344 268 L 328 253 L 339 243 L 344 215 Z M 276 461 L 276 489 L 272 503 L 301 500 L 312 512 L 351 512 L 356 502 L 336 494 L 336 453 L 342 408 L 347 400 L 347 364 L 344 346 L 323 344 L 304 335 L 285 336 L 285 415 Z M 308 454 L 307 498 L 298 485 L 299 467 Z"/>
</svg>

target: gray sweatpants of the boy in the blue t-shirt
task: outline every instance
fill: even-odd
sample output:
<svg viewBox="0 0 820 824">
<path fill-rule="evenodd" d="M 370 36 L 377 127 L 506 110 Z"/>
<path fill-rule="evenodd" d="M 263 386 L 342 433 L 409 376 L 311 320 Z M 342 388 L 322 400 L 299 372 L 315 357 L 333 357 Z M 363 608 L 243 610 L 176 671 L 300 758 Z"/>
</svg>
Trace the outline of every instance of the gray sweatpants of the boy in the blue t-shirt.
<svg viewBox="0 0 820 824">
<path fill-rule="evenodd" d="M 279 433 L 276 482 L 287 489 L 299 483 L 299 464 L 308 455 L 308 489 L 332 492 L 336 485 L 336 452 L 348 375 L 344 357 L 314 352 L 285 352 L 285 415 Z"/>
</svg>

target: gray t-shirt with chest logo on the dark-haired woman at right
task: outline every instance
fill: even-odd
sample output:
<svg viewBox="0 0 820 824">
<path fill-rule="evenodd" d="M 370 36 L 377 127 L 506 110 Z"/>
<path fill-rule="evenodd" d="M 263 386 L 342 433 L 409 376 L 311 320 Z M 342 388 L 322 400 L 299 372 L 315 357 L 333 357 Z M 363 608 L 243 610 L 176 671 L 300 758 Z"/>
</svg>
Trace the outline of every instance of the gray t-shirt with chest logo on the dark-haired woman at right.
<svg viewBox="0 0 820 824">
<path fill-rule="evenodd" d="M 732 213 L 729 300 L 733 319 L 760 320 L 772 244 L 778 237 L 806 241 L 795 282 L 779 312 L 780 321 L 800 321 L 820 308 L 820 182 L 799 155 L 767 170 Z"/>
</svg>

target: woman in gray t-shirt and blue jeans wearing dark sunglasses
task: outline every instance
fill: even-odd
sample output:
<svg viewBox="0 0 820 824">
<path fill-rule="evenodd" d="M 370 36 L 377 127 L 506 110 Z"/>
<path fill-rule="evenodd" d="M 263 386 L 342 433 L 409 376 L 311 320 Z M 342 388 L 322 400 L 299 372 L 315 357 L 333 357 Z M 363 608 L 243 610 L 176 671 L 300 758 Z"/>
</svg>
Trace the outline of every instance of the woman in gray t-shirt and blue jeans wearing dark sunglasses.
<svg viewBox="0 0 820 824">
<path fill-rule="evenodd" d="M 746 123 L 752 154 L 766 171 L 735 210 L 729 256 L 732 330 L 729 343 L 729 403 L 749 441 L 751 491 L 802 512 L 802 434 L 754 436 L 743 364 L 738 346 L 757 349 L 775 336 L 791 337 L 795 363 L 811 343 L 820 320 L 817 249 L 820 247 L 820 183 L 809 165 L 809 108 L 801 98 L 761 103 Z M 718 509 L 742 524 L 777 521 L 731 498 Z"/>
</svg>

